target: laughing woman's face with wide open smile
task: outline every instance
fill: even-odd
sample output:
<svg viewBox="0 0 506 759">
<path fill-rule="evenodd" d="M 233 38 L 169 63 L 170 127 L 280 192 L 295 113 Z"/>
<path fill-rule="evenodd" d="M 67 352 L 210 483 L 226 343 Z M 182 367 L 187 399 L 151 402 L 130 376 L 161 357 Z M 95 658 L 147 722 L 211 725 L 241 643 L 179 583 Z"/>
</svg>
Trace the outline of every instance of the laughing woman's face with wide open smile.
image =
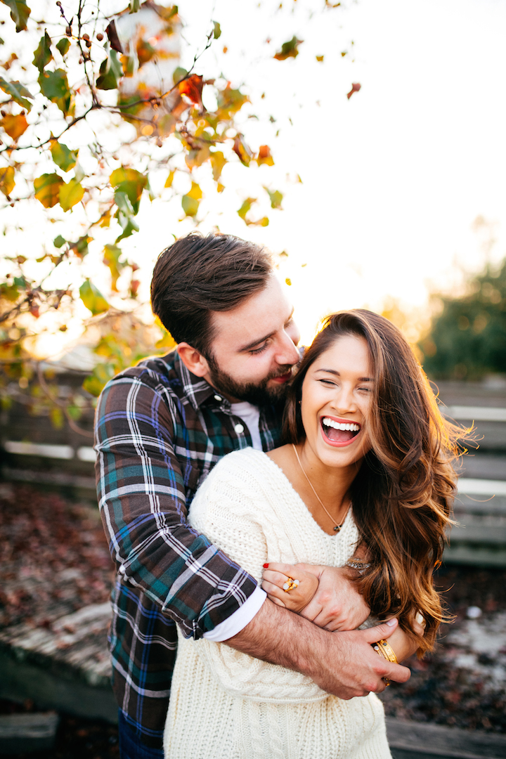
<svg viewBox="0 0 506 759">
<path fill-rule="evenodd" d="M 303 449 L 308 455 L 312 452 L 331 467 L 356 465 L 362 460 L 371 447 L 367 419 L 372 387 L 366 340 L 357 335 L 338 337 L 311 364 L 303 381 Z"/>
</svg>

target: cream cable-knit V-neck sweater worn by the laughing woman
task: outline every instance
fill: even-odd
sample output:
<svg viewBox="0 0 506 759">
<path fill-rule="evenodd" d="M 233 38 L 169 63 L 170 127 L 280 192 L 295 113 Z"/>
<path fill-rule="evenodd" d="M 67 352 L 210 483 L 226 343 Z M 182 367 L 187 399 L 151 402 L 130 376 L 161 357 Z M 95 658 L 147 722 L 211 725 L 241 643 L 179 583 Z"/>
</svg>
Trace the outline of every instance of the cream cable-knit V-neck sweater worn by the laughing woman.
<svg viewBox="0 0 506 759">
<path fill-rule="evenodd" d="M 190 522 L 260 581 L 266 561 L 341 566 L 358 540 L 352 515 L 328 535 L 265 453 L 215 466 Z M 167 759 L 390 759 L 374 694 L 342 701 L 310 678 L 223 643 L 182 636 L 165 724 Z"/>
</svg>

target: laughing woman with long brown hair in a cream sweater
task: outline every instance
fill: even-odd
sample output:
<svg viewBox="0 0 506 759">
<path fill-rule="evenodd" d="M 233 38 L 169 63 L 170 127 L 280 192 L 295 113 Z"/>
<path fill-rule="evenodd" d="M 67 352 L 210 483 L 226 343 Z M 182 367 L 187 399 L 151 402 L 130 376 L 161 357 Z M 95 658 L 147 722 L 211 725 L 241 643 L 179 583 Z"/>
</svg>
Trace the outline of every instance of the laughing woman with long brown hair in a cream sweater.
<svg viewBox="0 0 506 759">
<path fill-rule="evenodd" d="M 351 562 L 360 592 L 401 628 L 379 655 L 406 641 L 429 650 L 443 618 L 432 571 L 459 432 L 398 329 L 366 310 L 337 313 L 294 379 L 287 445 L 225 456 L 196 494 L 192 524 L 257 580 L 269 562 L 264 587 L 297 610 L 318 581 L 294 565 L 341 566 L 362 552 Z M 298 672 L 206 640 L 179 641 L 167 727 L 168 759 L 390 757 L 375 694 L 342 701 Z"/>
</svg>

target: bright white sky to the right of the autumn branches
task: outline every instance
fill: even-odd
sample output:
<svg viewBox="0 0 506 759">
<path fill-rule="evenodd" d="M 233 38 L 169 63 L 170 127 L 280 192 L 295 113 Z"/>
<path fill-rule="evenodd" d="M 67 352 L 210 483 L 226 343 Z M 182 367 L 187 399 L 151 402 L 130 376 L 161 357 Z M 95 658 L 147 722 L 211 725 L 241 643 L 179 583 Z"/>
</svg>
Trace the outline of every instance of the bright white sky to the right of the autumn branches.
<svg viewBox="0 0 506 759">
<path fill-rule="evenodd" d="M 477 216 L 496 222 L 492 256 L 504 255 L 506 3 L 359 0 L 310 21 L 308 8 L 323 2 L 285 0 L 284 11 L 290 5 L 292 15 L 276 14 L 278 2 L 179 3 L 190 42 L 209 18 L 220 22 L 224 70 L 244 80 L 253 102 L 265 91 L 266 113 L 281 124 L 278 140 L 253 132 L 275 154 L 262 181 L 275 187 L 287 173 L 303 181 L 288 184 L 284 211 L 272 212 L 267 228 L 245 228 L 234 213 L 240 202 L 226 193 L 214 204 L 222 216 L 209 213 L 203 228 L 218 222 L 288 252 L 284 272 L 308 336 L 323 313 L 342 307 L 378 309 L 394 298 L 425 311 L 430 289 L 454 288 L 460 267 L 482 266 Z M 297 60 L 273 61 L 294 34 L 304 40 Z M 352 82 L 362 89 L 348 100 Z M 157 203 L 144 213 L 132 245 L 156 256 L 171 239 L 167 218 Z"/>
</svg>

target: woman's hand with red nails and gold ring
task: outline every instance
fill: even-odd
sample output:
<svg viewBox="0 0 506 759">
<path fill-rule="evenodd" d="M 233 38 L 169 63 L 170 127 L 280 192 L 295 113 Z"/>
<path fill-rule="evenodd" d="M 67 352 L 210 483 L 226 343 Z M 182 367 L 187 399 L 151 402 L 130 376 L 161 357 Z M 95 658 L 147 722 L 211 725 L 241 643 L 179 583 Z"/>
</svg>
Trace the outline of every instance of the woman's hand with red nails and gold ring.
<svg viewBox="0 0 506 759">
<path fill-rule="evenodd" d="M 291 591 L 284 591 L 283 585 L 288 578 L 298 580 L 299 584 Z M 273 603 L 298 613 L 316 593 L 318 578 L 300 564 L 271 562 L 264 564 L 262 588 Z"/>
</svg>

